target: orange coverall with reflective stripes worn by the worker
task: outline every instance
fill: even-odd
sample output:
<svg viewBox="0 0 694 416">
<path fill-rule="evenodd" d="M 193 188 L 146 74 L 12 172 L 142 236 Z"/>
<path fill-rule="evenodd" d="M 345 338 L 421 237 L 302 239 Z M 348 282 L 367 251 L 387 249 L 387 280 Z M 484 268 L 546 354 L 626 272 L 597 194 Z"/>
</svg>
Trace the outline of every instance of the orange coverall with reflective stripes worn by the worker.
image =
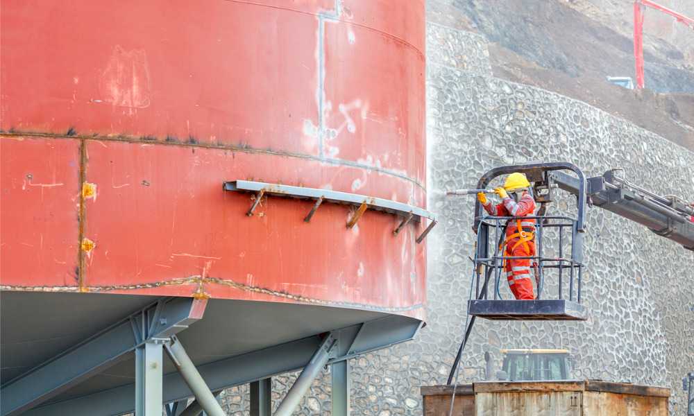
<svg viewBox="0 0 694 416">
<path fill-rule="evenodd" d="M 505 196 L 498 205 L 487 202 L 484 210 L 493 216 L 532 216 L 535 213 L 535 200 L 530 193 L 523 192 L 518 202 Z M 518 232 L 521 227 L 521 232 Z M 509 219 L 506 229 L 505 257 L 530 257 L 535 255 L 535 220 Z M 530 259 L 510 259 L 504 263 L 509 288 L 518 300 L 533 300 L 532 279 L 530 279 Z"/>
</svg>

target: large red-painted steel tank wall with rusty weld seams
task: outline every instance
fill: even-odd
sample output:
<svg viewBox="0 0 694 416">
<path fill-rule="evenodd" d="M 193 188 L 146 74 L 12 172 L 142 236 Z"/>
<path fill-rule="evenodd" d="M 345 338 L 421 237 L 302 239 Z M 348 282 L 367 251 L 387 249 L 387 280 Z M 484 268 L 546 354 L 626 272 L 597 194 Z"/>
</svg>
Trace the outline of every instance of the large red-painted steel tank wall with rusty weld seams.
<svg viewBox="0 0 694 416">
<path fill-rule="evenodd" d="M 3 290 L 312 302 L 423 318 L 423 0 L 5 1 Z M 83 191 L 94 185 L 94 194 Z M 85 240 L 92 241 L 92 248 Z"/>
</svg>

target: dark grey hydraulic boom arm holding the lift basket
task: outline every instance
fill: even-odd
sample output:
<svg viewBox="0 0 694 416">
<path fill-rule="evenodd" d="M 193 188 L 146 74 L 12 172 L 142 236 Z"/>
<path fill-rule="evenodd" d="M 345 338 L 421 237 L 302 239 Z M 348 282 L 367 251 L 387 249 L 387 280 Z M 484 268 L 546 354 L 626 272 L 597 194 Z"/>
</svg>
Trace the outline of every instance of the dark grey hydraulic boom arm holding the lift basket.
<svg viewBox="0 0 694 416">
<path fill-rule="evenodd" d="M 579 179 L 560 171 L 547 173 L 548 186 L 579 195 Z M 587 180 L 586 194 L 592 205 L 645 225 L 659 236 L 694 251 L 694 207 L 677 198 L 663 198 L 607 171 Z"/>
</svg>

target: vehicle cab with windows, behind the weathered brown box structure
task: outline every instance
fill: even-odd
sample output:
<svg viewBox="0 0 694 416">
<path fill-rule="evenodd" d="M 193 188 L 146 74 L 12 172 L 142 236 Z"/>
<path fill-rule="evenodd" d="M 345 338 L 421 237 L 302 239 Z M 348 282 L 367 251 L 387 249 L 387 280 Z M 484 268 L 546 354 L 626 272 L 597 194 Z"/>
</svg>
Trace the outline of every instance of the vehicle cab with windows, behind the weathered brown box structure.
<svg viewBox="0 0 694 416">
<path fill-rule="evenodd" d="M 568 349 L 502 349 L 502 373 L 507 381 L 570 379 L 575 358 Z"/>
</svg>

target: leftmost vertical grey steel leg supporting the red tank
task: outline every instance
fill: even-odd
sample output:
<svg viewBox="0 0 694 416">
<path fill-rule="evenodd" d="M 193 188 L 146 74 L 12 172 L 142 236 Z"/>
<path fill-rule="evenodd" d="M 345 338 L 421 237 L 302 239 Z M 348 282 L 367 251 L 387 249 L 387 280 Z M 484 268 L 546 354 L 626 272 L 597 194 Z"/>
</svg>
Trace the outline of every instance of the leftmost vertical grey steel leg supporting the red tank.
<svg viewBox="0 0 694 416">
<path fill-rule="evenodd" d="M 135 416 L 162 414 L 162 343 L 135 348 Z"/>
</svg>

